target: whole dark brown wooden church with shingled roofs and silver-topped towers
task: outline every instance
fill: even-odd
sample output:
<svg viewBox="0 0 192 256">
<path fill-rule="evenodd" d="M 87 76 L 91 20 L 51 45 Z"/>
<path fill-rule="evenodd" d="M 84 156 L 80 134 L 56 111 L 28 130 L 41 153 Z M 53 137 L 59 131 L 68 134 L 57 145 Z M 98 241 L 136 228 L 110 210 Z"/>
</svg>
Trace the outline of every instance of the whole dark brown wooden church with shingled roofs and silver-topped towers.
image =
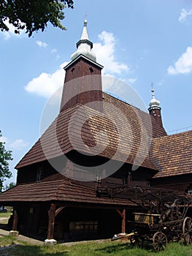
<svg viewBox="0 0 192 256">
<path fill-rule="evenodd" d="M 167 135 L 160 102 L 145 113 L 102 91 L 101 64 L 87 20 L 66 71 L 60 113 L 20 160 L 13 231 L 48 241 L 111 238 L 126 232 L 137 203 L 98 197 L 96 188 L 133 185 L 192 194 L 192 131 Z"/>
</svg>

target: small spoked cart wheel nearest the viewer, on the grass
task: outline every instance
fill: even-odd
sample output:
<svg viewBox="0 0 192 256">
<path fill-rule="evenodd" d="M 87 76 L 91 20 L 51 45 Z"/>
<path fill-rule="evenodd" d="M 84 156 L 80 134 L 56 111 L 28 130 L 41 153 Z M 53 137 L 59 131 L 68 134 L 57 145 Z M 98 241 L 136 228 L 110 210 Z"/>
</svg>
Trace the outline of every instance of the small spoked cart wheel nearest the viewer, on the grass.
<svg viewBox="0 0 192 256">
<path fill-rule="evenodd" d="M 153 235 L 153 249 L 155 252 L 166 250 L 167 238 L 162 232 L 157 232 Z"/>
</svg>

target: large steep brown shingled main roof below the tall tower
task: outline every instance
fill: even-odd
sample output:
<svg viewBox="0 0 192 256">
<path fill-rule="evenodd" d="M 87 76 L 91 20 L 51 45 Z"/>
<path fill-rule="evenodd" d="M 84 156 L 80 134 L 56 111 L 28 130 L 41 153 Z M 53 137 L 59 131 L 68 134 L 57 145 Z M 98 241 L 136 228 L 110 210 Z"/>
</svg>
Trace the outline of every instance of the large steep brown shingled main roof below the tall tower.
<svg viewBox="0 0 192 256">
<path fill-rule="evenodd" d="M 156 169 L 148 153 L 150 132 L 157 138 L 166 135 L 164 128 L 148 113 L 108 94 L 104 94 L 103 102 L 102 114 L 79 104 L 59 113 L 16 168 L 53 159 L 72 150 L 87 154 L 97 154 L 99 150 L 101 157 L 131 164 L 139 153 L 143 167 Z"/>
</svg>

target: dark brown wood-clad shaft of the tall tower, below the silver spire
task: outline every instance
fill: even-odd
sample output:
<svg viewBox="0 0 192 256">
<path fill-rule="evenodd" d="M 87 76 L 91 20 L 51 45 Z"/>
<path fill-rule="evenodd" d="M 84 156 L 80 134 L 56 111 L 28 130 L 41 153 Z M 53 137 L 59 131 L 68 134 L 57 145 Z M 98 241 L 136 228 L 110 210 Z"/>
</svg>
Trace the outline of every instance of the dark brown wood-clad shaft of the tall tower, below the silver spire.
<svg viewBox="0 0 192 256">
<path fill-rule="evenodd" d="M 101 68 L 83 58 L 66 69 L 61 111 L 77 103 L 102 112 Z"/>
</svg>

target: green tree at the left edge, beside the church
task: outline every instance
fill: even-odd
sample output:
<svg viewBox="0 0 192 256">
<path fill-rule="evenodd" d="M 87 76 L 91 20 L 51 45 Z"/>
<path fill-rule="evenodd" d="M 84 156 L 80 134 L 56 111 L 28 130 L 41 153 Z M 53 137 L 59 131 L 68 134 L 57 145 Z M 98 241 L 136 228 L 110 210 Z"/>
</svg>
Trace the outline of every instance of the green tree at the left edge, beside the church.
<svg viewBox="0 0 192 256">
<path fill-rule="evenodd" d="M 0 140 L 2 134 L 0 131 Z M 0 192 L 3 188 L 5 178 L 11 178 L 12 173 L 9 171 L 9 160 L 12 160 L 12 151 L 7 151 L 4 148 L 4 142 L 0 141 Z"/>
</svg>

